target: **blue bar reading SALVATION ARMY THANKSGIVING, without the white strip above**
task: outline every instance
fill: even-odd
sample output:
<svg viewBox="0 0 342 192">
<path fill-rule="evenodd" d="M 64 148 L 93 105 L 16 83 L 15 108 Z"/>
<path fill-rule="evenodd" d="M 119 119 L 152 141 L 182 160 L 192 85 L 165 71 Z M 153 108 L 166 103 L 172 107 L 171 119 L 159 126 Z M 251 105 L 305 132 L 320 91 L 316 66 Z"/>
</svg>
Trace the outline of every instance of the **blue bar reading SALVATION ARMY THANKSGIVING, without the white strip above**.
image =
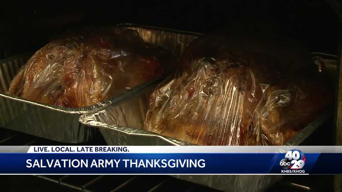
<svg viewBox="0 0 342 192">
<path fill-rule="evenodd" d="M 166 150 L 165 153 L 160 151 L 136 153 L 133 148 L 127 148 L 125 152 L 102 153 L 76 153 L 73 148 L 65 153 L 52 152 L 55 149 L 43 152 L 42 150 L 35 151 L 38 148 L 30 148 L 26 153 L 0 153 L 0 174 L 307 175 L 342 173 L 340 165 L 342 153 L 303 153 L 298 149 L 285 153 L 201 153 L 194 152 L 197 150 L 193 148 L 191 152 L 182 150 L 176 153 Z"/>
</svg>

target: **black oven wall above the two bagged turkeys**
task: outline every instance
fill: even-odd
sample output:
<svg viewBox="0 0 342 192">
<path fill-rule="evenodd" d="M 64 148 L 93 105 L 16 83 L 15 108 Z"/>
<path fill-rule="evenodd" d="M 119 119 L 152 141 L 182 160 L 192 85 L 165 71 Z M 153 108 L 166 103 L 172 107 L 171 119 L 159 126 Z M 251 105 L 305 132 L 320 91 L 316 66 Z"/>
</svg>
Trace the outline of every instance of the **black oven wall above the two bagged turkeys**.
<svg viewBox="0 0 342 192">
<path fill-rule="evenodd" d="M 313 51 L 337 54 L 337 17 L 325 1 L 58 1 L 0 6 L 0 59 L 35 51 L 53 33 L 79 26 L 136 23 L 210 33 L 293 37 Z"/>
</svg>

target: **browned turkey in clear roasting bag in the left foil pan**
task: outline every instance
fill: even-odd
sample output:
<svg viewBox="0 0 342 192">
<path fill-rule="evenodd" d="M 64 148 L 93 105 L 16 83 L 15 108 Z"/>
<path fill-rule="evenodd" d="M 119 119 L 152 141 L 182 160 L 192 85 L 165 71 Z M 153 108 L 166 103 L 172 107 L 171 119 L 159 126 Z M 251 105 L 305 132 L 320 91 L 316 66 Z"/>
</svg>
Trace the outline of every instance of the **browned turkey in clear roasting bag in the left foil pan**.
<svg viewBox="0 0 342 192">
<path fill-rule="evenodd" d="M 145 43 L 131 29 L 70 34 L 38 50 L 12 81 L 9 94 L 60 107 L 86 107 L 161 78 L 177 62 L 171 52 Z"/>
</svg>

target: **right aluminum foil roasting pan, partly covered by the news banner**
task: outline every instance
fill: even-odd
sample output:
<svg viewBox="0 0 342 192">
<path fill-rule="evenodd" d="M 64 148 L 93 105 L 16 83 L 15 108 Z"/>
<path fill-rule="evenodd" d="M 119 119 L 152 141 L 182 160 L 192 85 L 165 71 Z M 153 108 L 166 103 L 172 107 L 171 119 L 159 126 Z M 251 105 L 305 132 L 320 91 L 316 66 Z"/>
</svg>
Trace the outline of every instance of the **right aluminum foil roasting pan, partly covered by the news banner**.
<svg viewBox="0 0 342 192">
<path fill-rule="evenodd" d="M 325 62 L 326 63 L 326 62 Z M 331 63 L 331 62 L 328 62 Z M 333 75 L 334 70 L 328 73 Z M 149 92 L 147 88 L 143 96 L 136 96 L 120 105 L 111 106 L 102 111 L 92 114 L 84 114 L 80 122 L 86 126 L 99 128 L 108 145 L 193 145 L 191 143 L 173 139 L 167 136 L 148 132 L 143 129 L 131 127 L 143 127 L 145 118 L 144 104 Z M 144 100 L 145 97 L 145 100 Z M 128 112 L 129 111 L 129 112 Z M 313 135 L 329 118 L 332 112 L 326 111 L 317 116 L 316 120 L 307 125 L 296 136 L 290 139 L 285 145 L 298 146 Z M 123 126 L 119 126 L 123 125 Z M 321 127 L 323 128 L 323 127 Z M 264 191 L 282 177 L 280 175 L 172 175 L 173 177 L 203 184 L 205 186 L 228 191 Z"/>
</svg>

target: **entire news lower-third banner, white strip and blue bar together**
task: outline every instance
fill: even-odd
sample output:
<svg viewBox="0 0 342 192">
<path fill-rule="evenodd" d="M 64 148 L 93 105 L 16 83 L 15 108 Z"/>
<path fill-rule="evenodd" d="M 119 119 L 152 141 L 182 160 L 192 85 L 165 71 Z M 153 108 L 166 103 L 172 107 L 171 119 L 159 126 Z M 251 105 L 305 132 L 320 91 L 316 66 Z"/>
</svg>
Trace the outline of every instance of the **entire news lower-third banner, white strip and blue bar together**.
<svg viewBox="0 0 342 192">
<path fill-rule="evenodd" d="M 0 174 L 342 174 L 342 146 L 0 146 Z"/>
</svg>

